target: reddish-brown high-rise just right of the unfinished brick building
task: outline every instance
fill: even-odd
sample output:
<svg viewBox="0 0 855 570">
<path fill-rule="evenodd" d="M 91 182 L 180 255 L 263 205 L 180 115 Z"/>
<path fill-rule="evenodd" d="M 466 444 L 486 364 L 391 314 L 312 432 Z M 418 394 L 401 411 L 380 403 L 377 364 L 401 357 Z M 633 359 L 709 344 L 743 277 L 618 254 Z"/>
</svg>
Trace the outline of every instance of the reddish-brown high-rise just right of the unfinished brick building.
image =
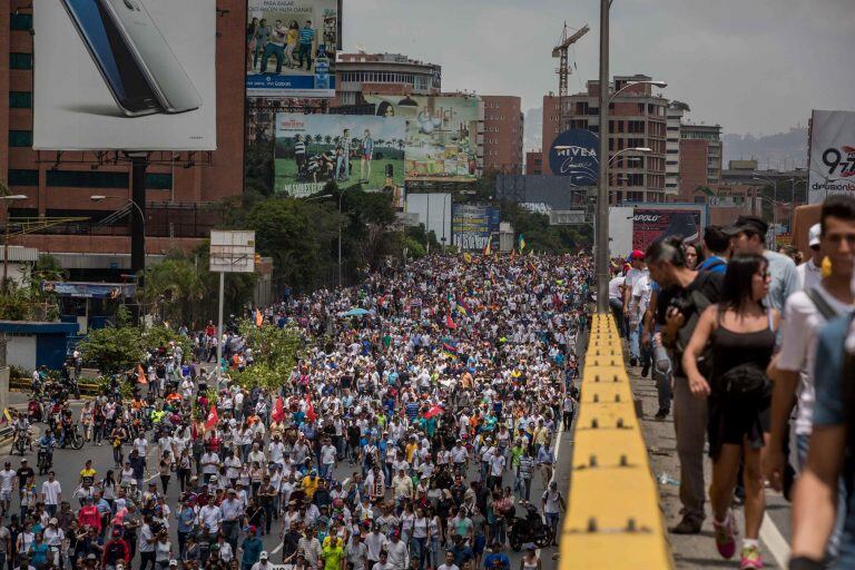
<svg viewBox="0 0 855 570">
<path fill-rule="evenodd" d="M 684 122 L 680 126 L 679 161 L 679 199 L 694 202 L 699 188 L 721 181 L 721 127 Z"/>
</svg>

